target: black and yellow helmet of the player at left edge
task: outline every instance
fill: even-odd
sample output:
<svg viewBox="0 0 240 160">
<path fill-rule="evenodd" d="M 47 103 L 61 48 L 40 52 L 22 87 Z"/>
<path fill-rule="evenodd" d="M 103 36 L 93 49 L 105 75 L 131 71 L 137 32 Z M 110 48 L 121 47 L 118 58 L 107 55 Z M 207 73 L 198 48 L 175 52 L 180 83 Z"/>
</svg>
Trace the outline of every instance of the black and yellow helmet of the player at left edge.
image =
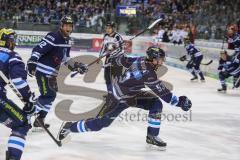
<svg viewBox="0 0 240 160">
<path fill-rule="evenodd" d="M 11 47 L 15 47 L 16 39 L 16 32 L 13 29 L 2 28 L 0 30 L 0 47 L 13 49 Z M 13 43 L 14 46 L 12 46 L 11 43 Z"/>
</svg>

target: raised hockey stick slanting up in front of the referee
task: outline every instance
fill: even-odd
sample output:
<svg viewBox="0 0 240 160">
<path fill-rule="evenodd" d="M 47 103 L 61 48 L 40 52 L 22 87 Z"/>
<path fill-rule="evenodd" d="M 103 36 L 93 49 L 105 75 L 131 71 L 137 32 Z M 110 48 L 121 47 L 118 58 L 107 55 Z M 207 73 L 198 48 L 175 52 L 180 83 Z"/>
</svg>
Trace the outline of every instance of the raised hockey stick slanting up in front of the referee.
<svg viewBox="0 0 240 160">
<path fill-rule="evenodd" d="M 162 21 L 162 20 L 163 20 L 162 18 L 159 18 L 159 19 L 155 20 L 155 21 L 154 21 L 152 24 L 150 24 L 146 29 L 144 29 L 143 31 L 137 33 L 135 36 L 133 36 L 132 38 L 130 38 L 129 41 L 132 41 L 133 39 L 135 39 L 135 38 L 138 37 L 139 35 L 143 34 L 144 32 L 152 29 L 156 24 L 158 24 L 158 23 L 159 23 L 160 21 Z M 124 43 L 124 42 L 120 43 L 120 45 L 123 44 L 123 43 Z M 116 49 L 117 49 L 117 48 L 116 48 Z M 111 52 L 109 52 L 109 53 L 107 53 L 107 54 L 105 54 L 105 55 L 103 55 L 103 56 L 100 56 L 100 57 L 97 58 L 96 60 L 94 60 L 94 61 L 92 61 L 91 63 L 89 63 L 89 64 L 87 65 L 87 67 L 90 67 L 91 65 L 99 62 L 102 58 L 104 58 L 104 57 L 112 54 L 116 49 L 114 49 L 113 51 L 111 51 Z M 79 73 L 79 72 L 77 71 L 77 72 L 74 72 L 73 74 L 71 74 L 71 78 L 73 78 L 74 76 L 76 76 L 78 73 Z"/>
</svg>

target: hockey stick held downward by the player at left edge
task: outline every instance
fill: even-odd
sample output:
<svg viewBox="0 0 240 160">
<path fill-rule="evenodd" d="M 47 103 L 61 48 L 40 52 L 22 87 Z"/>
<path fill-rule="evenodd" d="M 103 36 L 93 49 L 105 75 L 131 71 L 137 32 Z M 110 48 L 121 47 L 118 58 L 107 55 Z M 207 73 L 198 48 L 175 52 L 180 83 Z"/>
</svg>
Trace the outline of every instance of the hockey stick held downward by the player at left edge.
<svg viewBox="0 0 240 160">
<path fill-rule="evenodd" d="M 9 79 L 4 75 L 4 73 L 2 71 L 0 71 L 0 77 L 2 78 L 2 80 L 7 83 L 10 88 L 13 90 L 13 92 L 18 96 L 18 98 L 20 98 L 20 100 L 24 103 L 23 101 L 23 97 L 20 94 L 20 92 L 18 91 L 18 89 L 9 81 Z M 36 121 L 41 125 L 41 127 L 48 133 L 48 135 L 52 138 L 52 140 L 60 147 L 62 146 L 61 141 L 58 141 L 53 135 L 52 133 L 39 121 L 38 118 L 36 118 Z"/>
</svg>

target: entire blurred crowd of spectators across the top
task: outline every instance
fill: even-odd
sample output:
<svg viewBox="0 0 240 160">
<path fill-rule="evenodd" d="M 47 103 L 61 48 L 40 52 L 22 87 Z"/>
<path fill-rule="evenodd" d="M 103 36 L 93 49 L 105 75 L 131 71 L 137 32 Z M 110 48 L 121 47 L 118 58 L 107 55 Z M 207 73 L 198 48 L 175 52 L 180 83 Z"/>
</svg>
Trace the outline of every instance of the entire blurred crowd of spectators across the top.
<svg viewBox="0 0 240 160">
<path fill-rule="evenodd" d="M 128 17 L 129 34 L 152 20 L 168 19 L 168 29 L 195 26 L 198 38 L 221 39 L 226 25 L 238 21 L 240 1 L 233 0 L 0 0 L 0 22 L 57 24 L 71 14 L 76 27 L 103 31 L 114 20 L 117 5 L 136 6 L 137 16 Z"/>
</svg>

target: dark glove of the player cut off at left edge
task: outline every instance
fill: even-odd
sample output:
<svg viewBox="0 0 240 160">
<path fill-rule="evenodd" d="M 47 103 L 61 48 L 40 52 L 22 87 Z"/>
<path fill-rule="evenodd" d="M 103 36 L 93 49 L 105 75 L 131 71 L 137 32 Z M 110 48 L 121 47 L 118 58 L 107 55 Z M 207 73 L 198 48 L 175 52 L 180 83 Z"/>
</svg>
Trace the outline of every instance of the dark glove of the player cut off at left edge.
<svg viewBox="0 0 240 160">
<path fill-rule="evenodd" d="M 25 101 L 25 105 L 23 107 L 23 111 L 28 115 L 32 116 L 35 113 L 35 102 L 36 102 L 35 94 L 32 92 L 30 97 Z"/>
</svg>

